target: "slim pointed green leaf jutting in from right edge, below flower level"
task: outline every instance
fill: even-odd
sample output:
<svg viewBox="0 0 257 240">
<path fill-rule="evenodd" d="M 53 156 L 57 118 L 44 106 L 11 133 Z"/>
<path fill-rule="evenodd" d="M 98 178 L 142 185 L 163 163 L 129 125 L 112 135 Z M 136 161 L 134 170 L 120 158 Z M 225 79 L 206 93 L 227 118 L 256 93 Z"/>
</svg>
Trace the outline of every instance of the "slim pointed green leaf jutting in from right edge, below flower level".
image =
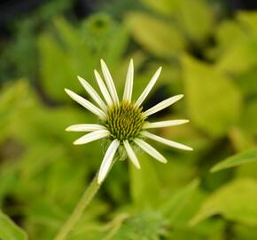
<svg viewBox="0 0 257 240">
<path fill-rule="evenodd" d="M 221 163 L 215 164 L 211 169 L 211 172 L 217 172 L 222 169 L 238 166 L 241 164 L 252 163 L 254 161 L 257 161 L 257 149 L 251 149 L 243 153 L 230 156 Z"/>
</svg>

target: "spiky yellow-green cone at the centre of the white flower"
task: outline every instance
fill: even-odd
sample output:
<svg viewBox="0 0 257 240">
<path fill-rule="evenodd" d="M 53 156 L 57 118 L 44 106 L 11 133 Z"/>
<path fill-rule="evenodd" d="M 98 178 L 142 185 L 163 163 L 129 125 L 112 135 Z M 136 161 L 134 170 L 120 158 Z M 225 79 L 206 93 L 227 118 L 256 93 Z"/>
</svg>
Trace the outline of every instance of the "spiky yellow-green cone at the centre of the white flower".
<svg viewBox="0 0 257 240">
<path fill-rule="evenodd" d="M 105 125 L 113 139 L 132 141 L 141 132 L 144 120 L 142 108 L 122 100 L 108 109 Z"/>
</svg>

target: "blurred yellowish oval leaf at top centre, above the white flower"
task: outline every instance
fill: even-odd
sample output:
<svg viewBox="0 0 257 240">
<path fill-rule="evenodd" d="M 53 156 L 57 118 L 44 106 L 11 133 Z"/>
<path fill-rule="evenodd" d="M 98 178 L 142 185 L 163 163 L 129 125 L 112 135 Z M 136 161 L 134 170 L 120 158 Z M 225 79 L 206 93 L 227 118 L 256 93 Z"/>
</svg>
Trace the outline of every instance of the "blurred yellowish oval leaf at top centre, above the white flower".
<svg viewBox="0 0 257 240">
<path fill-rule="evenodd" d="M 156 56 L 168 58 L 183 50 L 183 36 L 173 25 L 163 20 L 143 12 L 130 12 L 125 24 L 136 41 Z"/>
</svg>

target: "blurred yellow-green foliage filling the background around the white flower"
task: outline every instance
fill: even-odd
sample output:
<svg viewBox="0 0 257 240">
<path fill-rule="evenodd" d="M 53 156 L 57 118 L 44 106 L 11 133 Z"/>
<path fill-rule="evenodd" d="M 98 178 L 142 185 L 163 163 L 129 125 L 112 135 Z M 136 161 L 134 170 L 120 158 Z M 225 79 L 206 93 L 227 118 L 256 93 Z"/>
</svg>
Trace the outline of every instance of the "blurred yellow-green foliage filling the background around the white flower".
<svg viewBox="0 0 257 240">
<path fill-rule="evenodd" d="M 157 145 L 168 164 L 145 154 L 140 171 L 115 164 L 68 239 L 255 240 L 257 12 L 223 16 L 205 0 L 118 3 L 78 20 L 64 14 L 72 1 L 52 1 L 1 41 L 0 239 L 55 236 L 103 158 L 99 142 L 74 147 L 79 135 L 64 131 L 97 118 L 63 89 L 87 98 L 76 76 L 96 86 L 103 58 L 121 94 L 133 58 L 134 99 L 163 67 L 144 108 L 185 94 L 154 117 L 191 123 L 156 132 L 195 150 Z"/>
</svg>

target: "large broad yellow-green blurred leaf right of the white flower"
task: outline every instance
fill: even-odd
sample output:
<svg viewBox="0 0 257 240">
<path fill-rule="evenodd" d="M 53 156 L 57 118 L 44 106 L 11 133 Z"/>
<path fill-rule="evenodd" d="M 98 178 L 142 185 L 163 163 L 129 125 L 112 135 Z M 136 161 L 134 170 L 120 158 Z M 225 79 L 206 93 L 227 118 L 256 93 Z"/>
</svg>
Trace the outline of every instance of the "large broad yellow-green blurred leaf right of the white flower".
<svg viewBox="0 0 257 240">
<path fill-rule="evenodd" d="M 212 66 L 183 57 L 185 97 L 191 121 L 219 136 L 238 121 L 241 96 L 231 80 Z"/>
</svg>

